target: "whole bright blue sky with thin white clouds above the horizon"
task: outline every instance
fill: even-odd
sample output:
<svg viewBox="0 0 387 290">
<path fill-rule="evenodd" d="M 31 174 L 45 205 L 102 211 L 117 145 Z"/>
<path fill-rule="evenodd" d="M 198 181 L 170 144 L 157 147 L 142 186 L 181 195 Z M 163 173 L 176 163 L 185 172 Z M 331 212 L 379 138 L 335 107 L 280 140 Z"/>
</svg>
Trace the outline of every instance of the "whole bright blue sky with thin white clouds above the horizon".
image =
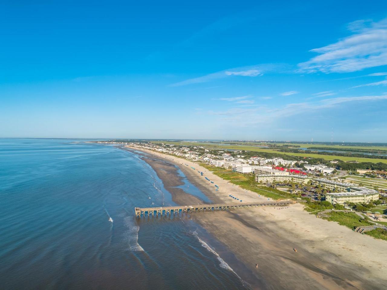
<svg viewBox="0 0 387 290">
<path fill-rule="evenodd" d="M 0 138 L 387 142 L 386 1 L 2 1 Z"/>
</svg>

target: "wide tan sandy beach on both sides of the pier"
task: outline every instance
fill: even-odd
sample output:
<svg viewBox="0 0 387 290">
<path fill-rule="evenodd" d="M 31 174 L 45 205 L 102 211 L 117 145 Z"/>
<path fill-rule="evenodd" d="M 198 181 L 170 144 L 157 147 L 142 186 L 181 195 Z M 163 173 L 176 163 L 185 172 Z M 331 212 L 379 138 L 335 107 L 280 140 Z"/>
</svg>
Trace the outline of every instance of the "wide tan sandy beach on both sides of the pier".
<svg viewBox="0 0 387 290">
<path fill-rule="evenodd" d="M 155 169 L 166 189 L 171 192 L 173 201 L 178 204 L 189 205 L 202 201 L 182 189 L 174 188 L 181 181 L 172 164 L 178 165 L 188 180 L 215 203 L 239 202 L 229 198 L 229 194 L 244 202 L 267 200 L 257 193 L 228 183 L 188 160 L 149 150 L 132 149 L 145 152 L 154 159 L 144 158 Z M 215 191 L 214 184 L 206 181 L 198 170 L 214 181 L 219 190 Z M 310 215 L 301 204 L 282 209 L 262 207 L 211 214 L 197 213 L 192 214 L 191 218 L 245 264 L 248 270 L 238 271 L 238 268 L 233 268 L 232 261 L 222 256 L 252 288 L 385 289 L 387 242 Z M 258 269 L 255 264 L 259 265 Z"/>
</svg>

